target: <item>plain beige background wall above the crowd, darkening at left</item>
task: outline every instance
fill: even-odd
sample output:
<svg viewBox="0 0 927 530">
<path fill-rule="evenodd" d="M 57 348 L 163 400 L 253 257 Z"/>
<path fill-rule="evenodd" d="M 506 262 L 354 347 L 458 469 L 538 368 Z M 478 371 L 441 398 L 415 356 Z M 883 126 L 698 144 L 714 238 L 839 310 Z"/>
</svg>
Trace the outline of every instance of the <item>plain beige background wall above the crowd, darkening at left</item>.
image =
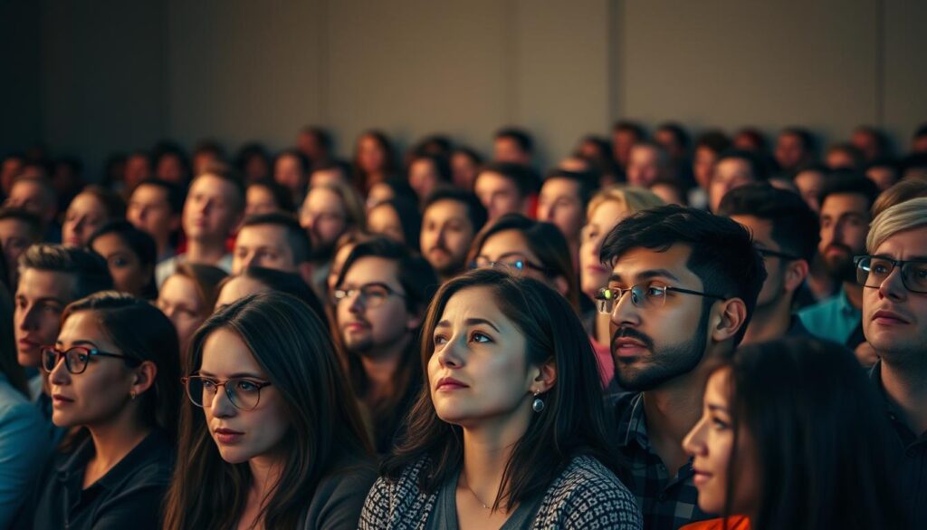
<svg viewBox="0 0 927 530">
<path fill-rule="evenodd" d="M 514 124 L 550 164 L 617 118 L 825 142 L 869 123 L 907 148 L 925 22 L 927 3 L 884 0 L 10 0 L 0 151 L 43 140 L 93 179 L 164 137 L 281 149 L 311 123 L 344 157 L 369 127 L 488 152 Z"/>
</svg>

